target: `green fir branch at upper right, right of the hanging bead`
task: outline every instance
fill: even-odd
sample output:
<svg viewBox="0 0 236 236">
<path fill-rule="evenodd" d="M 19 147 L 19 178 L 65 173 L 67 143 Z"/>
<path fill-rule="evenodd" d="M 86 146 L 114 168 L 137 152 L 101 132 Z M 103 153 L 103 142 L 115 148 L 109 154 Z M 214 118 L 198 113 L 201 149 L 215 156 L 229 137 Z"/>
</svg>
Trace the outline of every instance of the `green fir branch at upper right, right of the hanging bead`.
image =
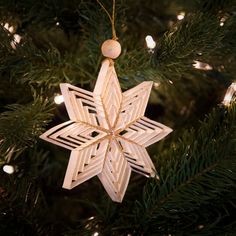
<svg viewBox="0 0 236 236">
<path fill-rule="evenodd" d="M 200 12 L 188 15 L 165 33 L 156 49 L 159 76 L 175 81 L 184 73 L 193 72 L 192 64 L 198 54 L 207 60 L 219 48 L 223 37 L 224 31 L 214 16 Z"/>
</svg>

